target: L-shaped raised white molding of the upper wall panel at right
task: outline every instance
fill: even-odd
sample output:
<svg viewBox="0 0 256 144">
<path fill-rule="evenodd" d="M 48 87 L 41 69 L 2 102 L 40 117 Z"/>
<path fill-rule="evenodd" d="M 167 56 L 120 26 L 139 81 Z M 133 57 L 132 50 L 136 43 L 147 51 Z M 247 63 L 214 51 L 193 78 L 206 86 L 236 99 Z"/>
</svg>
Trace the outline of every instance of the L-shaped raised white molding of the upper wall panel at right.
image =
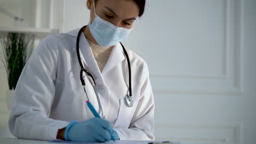
<svg viewBox="0 0 256 144">
<path fill-rule="evenodd" d="M 224 71 L 221 75 L 152 74 L 155 93 L 242 95 L 242 0 L 223 1 Z M 235 22 L 234 22 L 235 21 Z M 235 36 L 234 36 L 235 35 Z M 196 84 L 196 85 L 195 85 Z"/>
</svg>

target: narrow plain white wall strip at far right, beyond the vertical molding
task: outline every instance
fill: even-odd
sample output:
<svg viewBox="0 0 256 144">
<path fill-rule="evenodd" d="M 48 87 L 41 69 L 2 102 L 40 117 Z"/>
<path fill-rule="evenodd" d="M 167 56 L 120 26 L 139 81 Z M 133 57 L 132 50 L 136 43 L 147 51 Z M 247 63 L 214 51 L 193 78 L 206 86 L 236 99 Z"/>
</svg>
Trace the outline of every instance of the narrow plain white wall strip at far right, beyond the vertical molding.
<svg viewBox="0 0 256 144">
<path fill-rule="evenodd" d="M 244 116 L 244 143 L 256 141 L 256 1 L 245 1 L 244 7 L 244 87 L 245 97 L 241 100 L 242 116 Z"/>
</svg>

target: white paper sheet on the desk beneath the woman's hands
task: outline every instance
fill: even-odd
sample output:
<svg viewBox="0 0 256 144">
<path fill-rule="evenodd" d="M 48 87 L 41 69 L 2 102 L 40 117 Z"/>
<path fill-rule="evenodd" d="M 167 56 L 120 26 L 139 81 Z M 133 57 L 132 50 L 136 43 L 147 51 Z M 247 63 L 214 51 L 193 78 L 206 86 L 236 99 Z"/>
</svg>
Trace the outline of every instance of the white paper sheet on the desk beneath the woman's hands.
<svg viewBox="0 0 256 144">
<path fill-rule="evenodd" d="M 75 141 L 48 141 L 51 143 L 69 143 L 69 144 L 102 144 L 102 143 L 113 143 L 113 144 L 148 144 L 149 142 L 158 142 L 158 141 L 129 141 L 129 140 L 118 140 L 118 141 L 108 141 L 108 142 L 75 142 Z M 179 144 L 180 141 L 170 141 L 173 144 Z M 164 143 L 163 143 L 164 144 Z"/>
</svg>

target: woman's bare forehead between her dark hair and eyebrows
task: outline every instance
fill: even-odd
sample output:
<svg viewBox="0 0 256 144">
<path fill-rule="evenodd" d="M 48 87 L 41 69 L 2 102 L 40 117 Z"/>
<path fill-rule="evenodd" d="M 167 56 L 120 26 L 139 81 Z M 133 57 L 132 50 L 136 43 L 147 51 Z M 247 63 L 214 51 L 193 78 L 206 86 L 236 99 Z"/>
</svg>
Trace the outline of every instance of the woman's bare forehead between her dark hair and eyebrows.
<svg viewBox="0 0 256 144">
<path fill-rule="evenodd" d="M 139 7 L 133 0 L 98 0 L 96 7 L 102 10 L 108 7 L 118 16 L 124 17 L 137 17 L 139 14 Z"/>
</svg>

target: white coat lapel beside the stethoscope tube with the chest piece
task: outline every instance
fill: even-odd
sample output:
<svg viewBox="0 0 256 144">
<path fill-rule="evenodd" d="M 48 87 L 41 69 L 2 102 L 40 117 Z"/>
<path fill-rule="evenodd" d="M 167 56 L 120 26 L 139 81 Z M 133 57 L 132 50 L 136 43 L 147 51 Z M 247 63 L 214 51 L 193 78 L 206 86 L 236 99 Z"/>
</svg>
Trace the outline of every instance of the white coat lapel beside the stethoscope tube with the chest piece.
<svg viewBox="0 0 256 144">
<path fill-rule="evenodd" d="M 123 47 L 120 43 L 114 45 L 112 52 L 108 58 L 108 62 L 106 63 L 104 69 L 102 70 L 102 75 L 106 74 L 110 69 L 117 66 L 121 61 L 124 61 L 124 53 Z"/>
</svg>

